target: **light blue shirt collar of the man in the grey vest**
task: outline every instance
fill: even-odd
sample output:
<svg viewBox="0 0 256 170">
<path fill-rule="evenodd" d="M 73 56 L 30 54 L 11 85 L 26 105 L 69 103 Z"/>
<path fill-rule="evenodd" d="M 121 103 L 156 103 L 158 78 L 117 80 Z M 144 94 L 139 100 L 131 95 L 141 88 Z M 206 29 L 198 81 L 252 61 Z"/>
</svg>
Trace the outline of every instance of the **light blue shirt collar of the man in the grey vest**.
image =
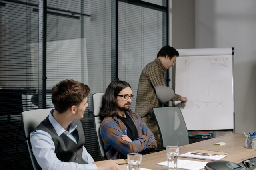
<svg viewBox="0 0 256 170">
<path fill-rule="evenodd" d="M 54 130 L 56 131 L 57 135 L 60 136 L 62 133 L 64 133 L 66 130 L 56 121 L 56 119 L 52 116 L 54 109 L 50 111 L 49 114 L 49 121 L 52 124 Z M 72 133 L 76 129 L 77 125 L 74 121 L 69 124 L 69 133 Z"/>
</svg>

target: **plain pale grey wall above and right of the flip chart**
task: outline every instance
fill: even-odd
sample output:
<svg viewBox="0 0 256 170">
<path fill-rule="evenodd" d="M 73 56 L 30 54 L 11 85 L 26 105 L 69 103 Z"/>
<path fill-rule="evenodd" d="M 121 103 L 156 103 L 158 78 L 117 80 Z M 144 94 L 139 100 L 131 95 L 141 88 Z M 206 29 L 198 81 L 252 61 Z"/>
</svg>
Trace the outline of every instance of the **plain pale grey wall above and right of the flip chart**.
<svg viewBox="0 0 256 170">
<path fill-rule="evenodd" d="M 194 12 L 191 9 L 193 2 Z M 171 1 L 171 44 L 176 48 L 235 48 L 234 130 L 239 133 L 254 132 L 256 131 L 256 1 L 193 0 L 193 2 Z M 194 24 L 191 23 L 193 16 Z M 193 29 L 194 33 L 191 32 Z M 187 32 L 191 35 L 187 35 Z M 193 36 L 194 40 L 191 38 Z"/>
</svg>

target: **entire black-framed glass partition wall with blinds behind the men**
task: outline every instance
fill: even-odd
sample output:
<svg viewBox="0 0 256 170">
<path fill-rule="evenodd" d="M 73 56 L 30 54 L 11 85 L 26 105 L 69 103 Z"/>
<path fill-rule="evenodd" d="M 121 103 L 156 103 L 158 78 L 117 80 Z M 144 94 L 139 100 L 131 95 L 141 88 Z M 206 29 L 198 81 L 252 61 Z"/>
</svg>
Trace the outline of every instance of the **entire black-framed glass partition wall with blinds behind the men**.
<svg viewBox="0 0 256 170">
<path fill-rule="evenodd" d="M 81 121 L 85 147 L 100 160 L 91 95 L 120 79 L 136 96 L 140 72 L 168 42 L 162 2 L 0 0 L 2 169 L 32 169 L 20 113 L 53 107 L 51 88 L 63 79 L 91 89 Z M 136 98 L 132 102 L 134 110 Z"/>
</svg>

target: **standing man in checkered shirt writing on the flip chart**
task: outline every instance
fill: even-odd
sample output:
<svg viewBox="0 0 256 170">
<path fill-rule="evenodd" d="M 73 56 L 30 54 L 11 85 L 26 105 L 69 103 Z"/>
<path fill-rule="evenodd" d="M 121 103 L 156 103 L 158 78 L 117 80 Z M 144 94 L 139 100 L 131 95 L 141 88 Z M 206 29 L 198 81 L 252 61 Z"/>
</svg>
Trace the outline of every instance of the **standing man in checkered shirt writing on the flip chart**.
<svg viewBox="0 0 256 170">
<path fill-rule="evenodd" d="M 144 67 L 139 79 L 135 112 L 142 117 L 143 121 L 154 134 L 158 148 L 161 147 L 161 141 L 156 120 L 152 114 L 152 108 L 159 107 L 155 87 L 159 85 L 166 86 L 164 71 L 174 66 L 178 56 L 178 51 L 173 47 L 168 45 L 162 47 L 157 54 L 157 58 Z M 186 103 L 187 98 L 174 94 L 172 101 Z M 167 103 L 162 103 L 162 105 L 168 106 Z"/>
</svg>

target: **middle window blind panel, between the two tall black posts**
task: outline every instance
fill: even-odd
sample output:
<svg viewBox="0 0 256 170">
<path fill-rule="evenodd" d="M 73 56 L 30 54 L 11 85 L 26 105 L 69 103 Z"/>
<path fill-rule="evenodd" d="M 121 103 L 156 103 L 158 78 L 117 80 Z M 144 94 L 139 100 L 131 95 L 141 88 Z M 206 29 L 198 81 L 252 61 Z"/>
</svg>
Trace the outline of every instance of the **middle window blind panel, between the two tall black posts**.
<svg viewBox="0 0 256 170">
<path fill-rule="evenodd" d="M 63 79 L 90 87 L 82 124 L 85 147 L 100 160 L 92 114 L 92 94 L 111 82 L 111 1 L 56 0 L 47 4 L 47 90 Z M 49 13 L 51 12 L 51 13 Z M 65 14 L 65 15 L 64 15 Z M 47 106 L 52 107 L 51 95 Z"/>
</svg>

